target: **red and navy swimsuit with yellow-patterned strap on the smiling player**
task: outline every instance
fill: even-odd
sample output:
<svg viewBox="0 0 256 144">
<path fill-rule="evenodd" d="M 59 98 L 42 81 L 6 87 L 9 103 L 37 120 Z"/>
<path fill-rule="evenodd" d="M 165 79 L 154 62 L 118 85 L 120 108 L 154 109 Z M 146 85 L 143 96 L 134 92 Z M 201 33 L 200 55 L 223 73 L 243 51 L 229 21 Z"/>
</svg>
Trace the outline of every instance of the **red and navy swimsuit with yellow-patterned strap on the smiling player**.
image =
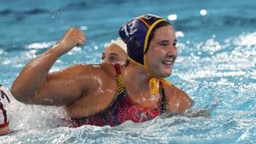
<svg viewBox="0 0 256 144">
<path fill-rule="evenodd" d="M 84 124 L 103 126 L 115 126 L 124 123 L 126 120 L 132 120 L 135 123 L 145 122 L 166 112 L 166 97 L 163 85 L 160 82 L 160 107 L 149 109 L 140 107 L 137 103 L 131 101 L 126 95 L 125 85 L 118 64 L 114 65 L 117 72 L 117 95 L 108 108 L 102 112 L 86 118 L 72 118 L 72 127 L 79 127 Z"/>
</svg>

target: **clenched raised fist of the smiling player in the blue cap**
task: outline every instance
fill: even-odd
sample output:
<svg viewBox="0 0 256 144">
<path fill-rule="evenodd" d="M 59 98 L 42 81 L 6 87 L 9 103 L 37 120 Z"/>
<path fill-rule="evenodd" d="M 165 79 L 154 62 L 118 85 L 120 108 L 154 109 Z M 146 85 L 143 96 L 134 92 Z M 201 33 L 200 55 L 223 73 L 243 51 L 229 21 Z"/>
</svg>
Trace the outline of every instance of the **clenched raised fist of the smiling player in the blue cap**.
<svg viewBox="0 0 256 144">
<path fill-rule="evenodd" d="M 57 43 L 60 55 L 65 55 L 76 45 L 82 45 L 86 41 L 84 33 L 78 28 L 70 28 Z"/>
</svg>

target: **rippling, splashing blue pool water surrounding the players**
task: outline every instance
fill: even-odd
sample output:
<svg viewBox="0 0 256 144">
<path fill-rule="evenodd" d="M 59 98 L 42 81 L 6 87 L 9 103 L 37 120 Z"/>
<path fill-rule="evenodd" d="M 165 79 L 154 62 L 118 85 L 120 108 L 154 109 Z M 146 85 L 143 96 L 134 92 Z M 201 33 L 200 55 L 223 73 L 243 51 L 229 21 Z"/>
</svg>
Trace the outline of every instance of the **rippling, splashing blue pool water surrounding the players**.
<svg viewBox="0 0 256 144">
<path fill-rule="evenodd" d="M 60 124 L 62 107 L 26 106 L 11 96 L 10 135 L 0 143 L 256 143 L 256 2 L 253 0 L 9 0 L 0 1 L 0 84 L 10 88 L 26 62 L 69 27 L 88 42 L 55 63 L 99 63 L 105 43 L 126 20 L 158 14 L 177 31 L 178 58 L 168 80 L 210 117 L 159 117 L 117 127 Z M 212 107 L 212 108 L 204 108 Z"/>
</svg>

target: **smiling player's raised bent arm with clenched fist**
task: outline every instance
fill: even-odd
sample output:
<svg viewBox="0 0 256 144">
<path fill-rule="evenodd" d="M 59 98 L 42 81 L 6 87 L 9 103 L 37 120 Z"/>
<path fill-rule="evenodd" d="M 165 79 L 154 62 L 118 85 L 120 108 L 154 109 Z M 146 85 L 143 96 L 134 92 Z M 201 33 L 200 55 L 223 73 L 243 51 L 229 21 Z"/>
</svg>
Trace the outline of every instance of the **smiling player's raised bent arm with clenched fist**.
<svg viewBox="0 0 256 144">
<path fill-rule="evenodd" d="M 82 95 L 81 83 L 76 77 L 79 72 L 83 72 L 83 66 L 73 66 L 55 73 L 49 73 L 49 69 L 61 55 L 84 42 L 83 32 L 71 28 L 61 41 L 28 62 L 11 87 L 15 99 L 24 103 L 45 105 L 67 105 L 75 101 Z M 76 82 L 77 86 L 72 86 Z"/>
</svg>

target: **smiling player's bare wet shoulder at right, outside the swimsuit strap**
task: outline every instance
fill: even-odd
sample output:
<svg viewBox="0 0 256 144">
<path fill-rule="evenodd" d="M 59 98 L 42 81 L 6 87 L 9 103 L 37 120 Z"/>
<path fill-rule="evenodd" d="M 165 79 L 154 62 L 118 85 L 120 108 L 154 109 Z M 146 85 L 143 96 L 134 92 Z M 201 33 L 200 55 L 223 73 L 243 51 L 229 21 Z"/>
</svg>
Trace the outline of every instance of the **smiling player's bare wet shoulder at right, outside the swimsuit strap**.
<svg viewBox="0 0 256 144">
<path fill-rule="evenodd" d="M 193 101 L 182 89 L 173 84 L 163 83 L 163 85 L 169 111 L 183 113 L 193 106 Z"/>
</svg>

